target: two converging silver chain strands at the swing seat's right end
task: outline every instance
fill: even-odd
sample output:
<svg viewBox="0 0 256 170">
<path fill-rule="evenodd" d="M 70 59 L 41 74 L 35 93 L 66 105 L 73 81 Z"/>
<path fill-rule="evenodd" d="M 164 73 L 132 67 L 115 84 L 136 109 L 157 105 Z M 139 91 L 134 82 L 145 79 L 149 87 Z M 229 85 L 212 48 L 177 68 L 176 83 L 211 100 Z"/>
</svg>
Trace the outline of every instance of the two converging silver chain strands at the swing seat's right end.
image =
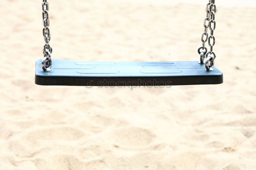
<svg viewBox="0 0 256 170">
<path fill-rule="evenodd" d="M 206 70 L 213 70 L 214 66 L 214 60 L 216 59 L 216 54 L 213 51 L 213 46 L 215 45 L 215 37 L 214 37 L 214 30 L 216 28 L 216 21 L 215 21 L 215 13 L 216 13 L 216 5 L 215 0 L 209 0 L 209 2 L 206 5 L 206 18 L 204 20 L 204 27 L 205 31 L 202 34 L 202 46 L 198 48 L 198 53 L 200 54 L 200 64 L 205 63 Z M 208 21 L 208 22 L 207 22 Z M 213 26 L 212 26 L 213 24 Z M 211 31 L 211 35 L 208 34 L 208 28 Z M 204 38 L 206 36 L 206 38 Z M 211 39 L 213 42 L 211 42 Z M 210 46 L 210 51 L 207 52 L 207 48 L 205 47 L 205 43 L 208 41 L 208 45 Z M 201 51 L 202 50 L 202 51 Z M 213 54 L 212 56 L 209 56 L 209 54 Z M 210 62 L 210 63 L 209 63 Z M 210 65 L 209 65 L 210 64 Z"/>
</svg>

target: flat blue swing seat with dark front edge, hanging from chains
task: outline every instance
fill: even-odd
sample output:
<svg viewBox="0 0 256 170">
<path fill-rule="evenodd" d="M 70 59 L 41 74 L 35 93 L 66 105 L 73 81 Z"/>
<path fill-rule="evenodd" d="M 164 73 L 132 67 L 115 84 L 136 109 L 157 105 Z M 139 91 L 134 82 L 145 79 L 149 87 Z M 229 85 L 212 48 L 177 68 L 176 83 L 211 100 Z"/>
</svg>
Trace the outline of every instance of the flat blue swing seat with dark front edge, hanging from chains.
<svg viewBox="0 0 256 170">
<path fill-rule="evenodd" d="M 52 59 L 50 72 L 36 62 L 35 83 L 44 86 L 175 86 L 221 84 L 222 72 L 198 61 L 84 62 Z"/>
</svg>

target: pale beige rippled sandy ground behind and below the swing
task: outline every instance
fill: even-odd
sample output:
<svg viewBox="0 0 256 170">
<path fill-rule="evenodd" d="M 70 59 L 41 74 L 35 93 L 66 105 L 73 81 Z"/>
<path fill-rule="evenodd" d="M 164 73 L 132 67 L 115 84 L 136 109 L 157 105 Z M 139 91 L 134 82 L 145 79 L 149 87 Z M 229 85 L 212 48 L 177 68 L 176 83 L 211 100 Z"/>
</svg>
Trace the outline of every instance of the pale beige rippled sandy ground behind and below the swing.
<svg viewBox="0 0 256 170">
<path fill-rule="evenodd" d="M 49 3 L 53 58 L 199 59 L 207 1 Z M 223 84 L 131 90 L 35 85 L 41 1 L 2 0 L 0 169 L 256 169 L 255 2 L 226 4 L 214 32 Z"/>
</svg>

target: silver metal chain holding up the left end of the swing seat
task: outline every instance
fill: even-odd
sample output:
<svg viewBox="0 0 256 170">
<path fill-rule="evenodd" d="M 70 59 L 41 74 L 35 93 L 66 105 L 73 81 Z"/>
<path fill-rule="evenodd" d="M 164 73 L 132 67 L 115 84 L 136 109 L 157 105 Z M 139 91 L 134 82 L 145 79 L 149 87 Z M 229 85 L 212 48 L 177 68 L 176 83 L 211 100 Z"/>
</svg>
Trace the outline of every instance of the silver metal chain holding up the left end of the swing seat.
<svg viewBox="0 0 256 170">
<path fill-rule="evenodd" d="M 52 47 L 49 44 L 49 41 L 51 40 L 51 34 L 50 34 L 50 20 L 49 20 L 49 3 L 47 0 L 43 0 L 42 3 L 42 10 L 43 10 L 43 36 L 45 40 L 45 45 L 43 49 L 44 58 L 42 59 L 42 69 L 44 71 L 51 71 L 51 53 L 52 53 Z"/>
</svg>

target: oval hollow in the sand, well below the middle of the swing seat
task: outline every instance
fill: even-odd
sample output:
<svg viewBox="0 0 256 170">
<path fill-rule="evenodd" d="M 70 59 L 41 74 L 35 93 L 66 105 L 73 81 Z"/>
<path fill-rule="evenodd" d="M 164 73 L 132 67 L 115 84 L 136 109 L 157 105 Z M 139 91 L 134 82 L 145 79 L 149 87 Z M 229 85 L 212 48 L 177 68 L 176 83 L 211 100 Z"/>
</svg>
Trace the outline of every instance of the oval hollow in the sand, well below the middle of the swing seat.
<svg viewBox="0 0 256 170">
<path fill-rule="evenodd" d="M 112 135 L 114 144 L 126 147 L 148 145 L 155 137 L 150 130 L 139 127 L 119 128 Z"/>
</svg>

